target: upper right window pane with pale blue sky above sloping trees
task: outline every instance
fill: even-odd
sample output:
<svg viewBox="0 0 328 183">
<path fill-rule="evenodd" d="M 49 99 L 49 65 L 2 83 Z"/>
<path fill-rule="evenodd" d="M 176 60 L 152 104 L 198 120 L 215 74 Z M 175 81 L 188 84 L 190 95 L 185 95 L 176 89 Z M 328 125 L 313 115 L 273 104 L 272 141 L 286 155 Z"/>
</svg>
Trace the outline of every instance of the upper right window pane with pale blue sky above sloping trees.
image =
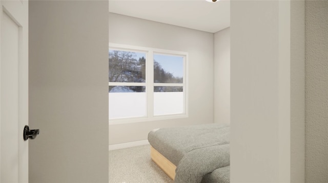
<svg viewBox="0 0 328 183">
<path fill-rule="evenodd" d="M 183 83 L 183 57 L 154 54 L 154 83 Z"/>
</svg>

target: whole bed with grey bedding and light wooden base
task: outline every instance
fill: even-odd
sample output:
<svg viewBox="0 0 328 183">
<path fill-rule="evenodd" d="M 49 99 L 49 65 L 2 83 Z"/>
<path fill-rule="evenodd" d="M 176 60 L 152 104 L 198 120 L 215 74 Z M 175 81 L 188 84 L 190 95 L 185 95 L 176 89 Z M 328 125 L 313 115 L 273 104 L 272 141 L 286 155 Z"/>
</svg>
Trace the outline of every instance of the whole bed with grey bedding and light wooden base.
<svg viewBox="0 0 328 183">
<path fill-rule="evenodd" d="M 154 129 L 152 160 L 176 183 L 230 182 L 230 125 Z"/>
</svg>

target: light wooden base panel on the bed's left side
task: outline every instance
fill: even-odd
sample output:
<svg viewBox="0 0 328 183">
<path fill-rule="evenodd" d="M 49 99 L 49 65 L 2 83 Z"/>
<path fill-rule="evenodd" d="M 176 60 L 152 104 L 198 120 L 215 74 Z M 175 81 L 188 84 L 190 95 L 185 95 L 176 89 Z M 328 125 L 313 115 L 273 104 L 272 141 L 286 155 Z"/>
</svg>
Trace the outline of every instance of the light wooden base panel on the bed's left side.
<svg viewBox="0 0 328 183">
<path fill-rule="evenodd" d="M 169 175 L 170 178 L 172 178 L 172 180 L 174 180 L 176 166 L 152 146 L 150 146 L 150 156 L 159 168 L 161 168 L 166 174 Z"/>
</svg>

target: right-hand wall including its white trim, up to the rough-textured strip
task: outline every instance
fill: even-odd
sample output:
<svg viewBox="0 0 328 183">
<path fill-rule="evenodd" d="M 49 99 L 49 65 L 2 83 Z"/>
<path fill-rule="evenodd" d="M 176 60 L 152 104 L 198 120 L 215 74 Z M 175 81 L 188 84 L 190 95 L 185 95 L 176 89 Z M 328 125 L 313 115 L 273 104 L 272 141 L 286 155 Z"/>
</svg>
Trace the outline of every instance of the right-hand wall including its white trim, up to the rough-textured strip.
<svg viewBox="0 0 328 183">
<path fill-rule="evenodd" d="M 304 182 L 304 164 L 291 157 L 304 162 L 304 73 L 296 71 L 304 68 L 304 29 L 292 28 L 304 24 L 304 1 L 297 3 L 231 1 L 231 182 Z"/>
</svg>

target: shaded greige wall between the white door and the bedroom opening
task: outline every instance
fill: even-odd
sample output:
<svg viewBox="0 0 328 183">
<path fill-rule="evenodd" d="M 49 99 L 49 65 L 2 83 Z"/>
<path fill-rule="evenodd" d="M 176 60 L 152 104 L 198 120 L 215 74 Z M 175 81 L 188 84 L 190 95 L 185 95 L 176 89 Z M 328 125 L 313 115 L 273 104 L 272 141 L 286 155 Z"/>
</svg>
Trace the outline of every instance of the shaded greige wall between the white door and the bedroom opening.
<svg viewBox="0 0 328 183">
<path fill-rule="evenodd" d="M 29 182 L 108 183 L 108 1 L 30 1 L 29 28 Z"/>
</svg>

